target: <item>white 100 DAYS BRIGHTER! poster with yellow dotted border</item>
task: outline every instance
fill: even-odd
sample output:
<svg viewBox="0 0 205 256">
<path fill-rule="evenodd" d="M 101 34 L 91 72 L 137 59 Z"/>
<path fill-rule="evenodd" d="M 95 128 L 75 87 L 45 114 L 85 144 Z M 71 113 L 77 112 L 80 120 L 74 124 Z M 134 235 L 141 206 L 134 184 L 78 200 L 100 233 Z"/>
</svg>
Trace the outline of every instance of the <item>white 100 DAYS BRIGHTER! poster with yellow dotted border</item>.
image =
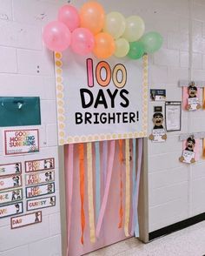
<svg viewBox="0 0 205 256">
<path fill-rule="evenodd" d="M 147 137 L 148 56 L 55 54 L 59 145 Z"/>
</svg>

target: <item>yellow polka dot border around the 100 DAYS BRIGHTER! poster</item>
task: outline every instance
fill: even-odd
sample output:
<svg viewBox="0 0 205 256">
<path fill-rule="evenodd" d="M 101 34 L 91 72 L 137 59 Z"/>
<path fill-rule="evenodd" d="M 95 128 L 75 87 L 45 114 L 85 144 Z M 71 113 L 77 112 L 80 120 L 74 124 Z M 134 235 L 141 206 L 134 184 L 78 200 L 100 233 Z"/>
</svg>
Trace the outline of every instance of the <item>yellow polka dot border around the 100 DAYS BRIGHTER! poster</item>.
<svg viewBox="0 0 205 256">
<path fill-rule="evenodd" d="M 148 55 L 142 57 L 142 131 L 133 131 L 128 133 L 109 133 L 109 134 L 95 134 L 87 136 L 75 136 L 65 138 L 65 116 L 64 116 L 64 88 L 63 88 L 63 60 L 62 53 L 55 53 L 55 67 L 56 67 L 56 103 L 57 103 L 57 120 L 58 120 L 58 142 L 59 145 L 80 143 L 80 142 L 94 142 L 112 139 L 126 139 L 126 138 L 142 138 L 148 136 Z"/>
</svg>

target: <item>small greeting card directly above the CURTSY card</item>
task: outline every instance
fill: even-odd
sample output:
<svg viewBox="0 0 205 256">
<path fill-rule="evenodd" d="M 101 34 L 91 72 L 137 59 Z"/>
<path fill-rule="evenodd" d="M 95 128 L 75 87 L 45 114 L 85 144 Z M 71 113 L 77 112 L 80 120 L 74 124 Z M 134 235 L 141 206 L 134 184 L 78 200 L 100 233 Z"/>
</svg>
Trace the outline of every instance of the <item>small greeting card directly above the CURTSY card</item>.
<svg viewBox="0 0 205 256">
<path fill-rule="evenodd" d="M 52 194 L 55 192 L 55 183 L 49 183 L 45 185 L 34 185 L 30 187 L 26 187 L 26 198 L 36 198 L 48 194 Z"/>
</svg>

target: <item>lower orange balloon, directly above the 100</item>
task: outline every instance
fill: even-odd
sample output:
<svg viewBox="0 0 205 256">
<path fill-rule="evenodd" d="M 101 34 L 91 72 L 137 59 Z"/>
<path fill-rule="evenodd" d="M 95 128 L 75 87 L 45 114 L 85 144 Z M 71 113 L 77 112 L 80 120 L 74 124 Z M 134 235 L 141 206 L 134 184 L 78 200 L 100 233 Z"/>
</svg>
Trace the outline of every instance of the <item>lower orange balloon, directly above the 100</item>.
<svg viewBox="0 0 205 256">
<path fill-rule="evenodd" d="M 93 53 L 99 58 L 111 57 L 116 51 L 115 40 L 108 33 L 99 33 L 95 37 L 95 47 Z"/>
</svg>

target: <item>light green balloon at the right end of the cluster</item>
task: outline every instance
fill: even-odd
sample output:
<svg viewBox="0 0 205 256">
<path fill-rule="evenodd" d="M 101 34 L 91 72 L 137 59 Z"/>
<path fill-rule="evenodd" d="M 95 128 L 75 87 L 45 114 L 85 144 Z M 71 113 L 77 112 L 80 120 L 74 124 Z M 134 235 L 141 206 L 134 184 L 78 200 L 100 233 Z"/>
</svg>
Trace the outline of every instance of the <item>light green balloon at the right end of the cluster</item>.
<svg viewBox="0 0 205 256">
<path fill-rule="evenodd" d="M 163 37 L 158 32 L 149 32 L 145 34 L 140 42 L 144 45 L 146 53 L 153 53 L 160 50 L 163 44 Z"/>
</svg>

